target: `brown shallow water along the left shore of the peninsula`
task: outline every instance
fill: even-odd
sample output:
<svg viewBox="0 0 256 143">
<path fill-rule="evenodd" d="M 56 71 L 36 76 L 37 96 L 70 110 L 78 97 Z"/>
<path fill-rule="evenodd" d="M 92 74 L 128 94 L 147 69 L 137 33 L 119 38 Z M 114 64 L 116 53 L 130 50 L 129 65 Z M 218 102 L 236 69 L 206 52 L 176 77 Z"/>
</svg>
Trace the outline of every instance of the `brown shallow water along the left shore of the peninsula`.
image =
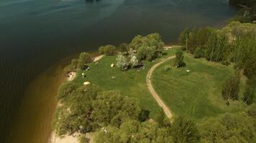
<svg viewBox="0 0 256 143">
<path fill-rule="evenodd" d="M 61 59 L 29 82 L 12 125 L 9 142 L 47 142 L 57 103 L 55 94 L 65 81 L 63 67 L 71 58 L 73 56 Z"/>
</svg>

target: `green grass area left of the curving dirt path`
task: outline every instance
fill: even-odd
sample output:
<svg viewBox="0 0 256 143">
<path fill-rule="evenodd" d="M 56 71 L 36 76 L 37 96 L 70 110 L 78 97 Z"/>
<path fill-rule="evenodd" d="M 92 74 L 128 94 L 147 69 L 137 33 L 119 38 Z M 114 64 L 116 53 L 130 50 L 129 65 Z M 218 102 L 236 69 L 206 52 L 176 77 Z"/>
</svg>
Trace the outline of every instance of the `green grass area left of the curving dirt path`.
<svg viewBox="0 0 256 143">
<path fill-rule="evenodd" d="M 160 59 L 170 55 L 174 55 L 171 50 Z M 147 89 L 146 75 L 150 67 L 160 59 L 152 62 L 145 61 L 145 69 L 121 71 L 118 67 L 111 68 L 110 66 L 112 63 L 116 64 L 116 56 L 104 56 L 99 64 L 88 64 L 90 70 L 78 71 L 73 82 L 83 84 L 83 82 L 88 81 L 105 90 L 115 90 L 121 92 L 124 96 L 137 98 L 142 108 L 150 110 L 150 117 L 154 118 L 160 107 Z M 86 74 L 85 78 L 82 77 L 82 73 Z"/>
</svg>

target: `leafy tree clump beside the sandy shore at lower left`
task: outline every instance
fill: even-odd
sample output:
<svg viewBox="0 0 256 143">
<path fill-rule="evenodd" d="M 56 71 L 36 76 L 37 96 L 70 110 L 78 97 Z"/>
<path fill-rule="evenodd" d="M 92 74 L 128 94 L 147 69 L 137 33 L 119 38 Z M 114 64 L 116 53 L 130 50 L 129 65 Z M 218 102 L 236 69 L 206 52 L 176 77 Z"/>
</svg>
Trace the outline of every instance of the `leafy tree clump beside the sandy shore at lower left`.
<svg viewBox="0 0 256 143">
<path fill-rule="evenodd" d="M 65 97 L 52 122 L 58 136 L 71 135 L 75 132 L 85 134 L 96 128 L 95 122 L 91 122 L 91 114 L 92 102 L 96 99 L 98 92 L 97 87 L 82 86 L 76 88 L 72 96 Z"/>
</svg>

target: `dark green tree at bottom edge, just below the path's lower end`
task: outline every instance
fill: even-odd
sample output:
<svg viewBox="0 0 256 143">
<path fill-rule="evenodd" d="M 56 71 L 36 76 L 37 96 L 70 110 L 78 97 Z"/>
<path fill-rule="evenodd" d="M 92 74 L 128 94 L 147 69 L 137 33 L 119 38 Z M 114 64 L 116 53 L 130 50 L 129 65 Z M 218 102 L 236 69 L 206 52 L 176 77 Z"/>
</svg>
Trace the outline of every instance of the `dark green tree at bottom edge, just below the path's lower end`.
<svg viewBox="0 0 256 143">
<path fill-rule="evenodd" d="M 199 142 L 200 135 L 196 124 L 183 116 L 178 117 L 171 125 L 171 135 L 175 143 Z"/>
</svg>

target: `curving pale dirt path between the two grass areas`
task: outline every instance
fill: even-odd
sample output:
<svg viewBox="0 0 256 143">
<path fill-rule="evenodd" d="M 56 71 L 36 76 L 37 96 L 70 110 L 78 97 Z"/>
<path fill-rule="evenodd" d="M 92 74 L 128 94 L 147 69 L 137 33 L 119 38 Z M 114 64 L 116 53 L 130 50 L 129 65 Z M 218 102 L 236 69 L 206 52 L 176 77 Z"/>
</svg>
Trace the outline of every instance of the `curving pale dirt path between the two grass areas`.
<svg viewBox="0 0 256 143">
<path fill-rule="evenodd" d="M 147 88 L 150 91 L 150 93 L 152 94 L 152 96 L 155 98 L 155 100 L 157 101 L 157 104 L 159 104 L 159 106 L 163 108 L 163 111 L 165 112 L 165 114 L 168 118 L 171 118 L 173 115 L 170 112 L 169 107 L 166 106 L 166 104 L 163 102 L 163 100 L 160 98 L 160 96 L 157 94 L 157 92 L 155 92 L 155 89 L 153 88 L 150 79 L 151 79 L 153 71 L 157 68 L 157 66 L 160 66 L 160 64 L 163 64 L 165 61 L 168 61 L 168 60 L 174 59 L 174 58 L 175 58 L 175 56 L 170 56 L 167 59 L 163 59 L 159 63 L 152 66 L 150 71 L 147 72 Z"/>
</svg>

